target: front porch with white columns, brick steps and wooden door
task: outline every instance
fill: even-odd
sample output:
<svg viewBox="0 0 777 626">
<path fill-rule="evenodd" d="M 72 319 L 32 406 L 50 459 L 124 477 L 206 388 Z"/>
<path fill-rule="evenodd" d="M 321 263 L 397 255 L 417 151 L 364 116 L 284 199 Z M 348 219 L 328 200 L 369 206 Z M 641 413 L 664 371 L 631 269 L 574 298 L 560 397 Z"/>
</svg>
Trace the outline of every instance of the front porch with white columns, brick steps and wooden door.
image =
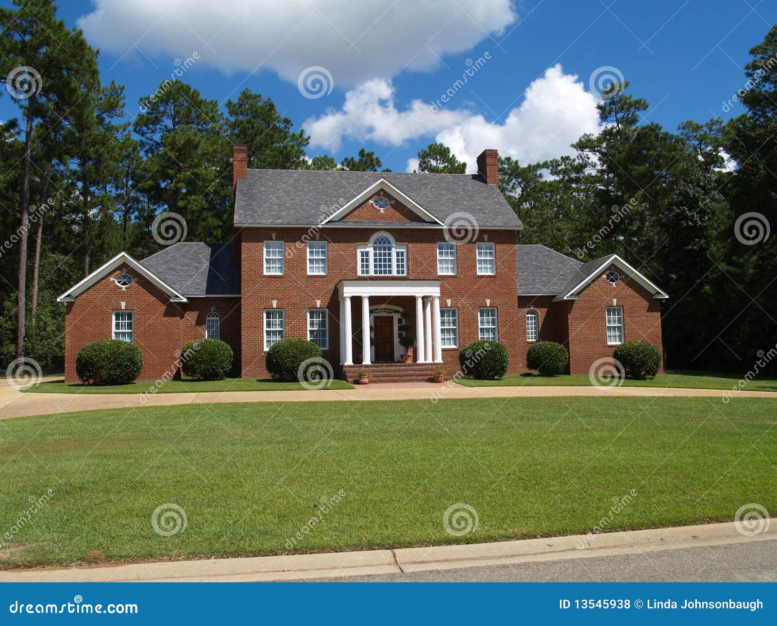
<svg viewBox="0 0 777 626">
<path fill-rule="evenodd" d="M 337 289 L 340 366 L 348 380 L 354 368 L 354 374 L 362 367 L 376 374 L 379 365 L 393 366 L 380 369 L 392 380 L 416 380 L 430 377 L 434 363 L 443 362 L 439 280 L 341 280 Z M 361 305 L 361 325 L 354 323 L 354 299 Z M 408 337 L 416 342 L 412 363 L 402 362 Z"/>
</svg>

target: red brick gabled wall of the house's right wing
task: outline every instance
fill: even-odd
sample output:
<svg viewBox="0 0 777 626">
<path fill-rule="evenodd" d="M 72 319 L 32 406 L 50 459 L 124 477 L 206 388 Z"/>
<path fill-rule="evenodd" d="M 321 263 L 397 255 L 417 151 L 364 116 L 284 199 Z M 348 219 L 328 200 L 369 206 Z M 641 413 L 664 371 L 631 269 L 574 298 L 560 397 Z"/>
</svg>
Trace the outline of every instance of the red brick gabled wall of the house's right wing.
<svg viewBox="0 0 777 626">
<path fill-rule="evenodd" d="M 621 276 L 614 285 L 605 279 L 610 269 Z M 569 308 L 570 374 L 588 374 L 591 363 L 611 357 L 615 352 L 616 346 L 607 345 L 605 310 L 610 306 L 623 307 L 625 341 L 649 341 L 663 352 L 660 301 L 615 267 L 603 270 L 601 276 L 580 292 L 577 301 L 570 301 L 566 306 Z"/>
</svg>

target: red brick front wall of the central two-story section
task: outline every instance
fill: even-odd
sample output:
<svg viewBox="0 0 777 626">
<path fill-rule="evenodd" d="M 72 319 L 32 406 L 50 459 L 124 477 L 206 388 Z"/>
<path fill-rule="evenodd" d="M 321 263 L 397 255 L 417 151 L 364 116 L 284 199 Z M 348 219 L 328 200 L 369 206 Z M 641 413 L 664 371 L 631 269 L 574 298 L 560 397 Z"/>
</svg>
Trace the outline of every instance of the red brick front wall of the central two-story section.
<svg viewBox="0 0 777 626">
<path fill-rule="evenodd" d="M 298 228 L 244 228 L 242 231 L 242 370 L 244 376 L 267 377 L 264 351 L 265 308 L 285 309 L 286 336 L 307 337 L 307 311 L 315 308 L 320 300 L 322 308 L 329 309 L 329 350 L 324 358 L 336 369 L 340 363 L 340 300 L 336 286 L 340 280 L 353 280 L 357 276 L 357 246 L 367 244 L 379 228 L 322 228 L 319 235 L 329 242 L 329 274 L 307 275 L 307 248 L 302 242 L 308 233 Z M 457 247 L 457 276 L 437 275 L 437 242 L 444 241 L 441 230 L 388 229 L 397 244 L 408 246 L 408 276 L 382 279 L 441 280 L 441 307 L 458 307 L 459 345 L 478 339 L 478 308 L 497 308 L 500 340 L 510 353 L 517 351 L 517 287 L 515 283 L 515 244 L 511 231 L 480 231 L 478 241 L 487 237 L 496 244 L 497 273 L 495 276 L 477 276 L 476 245 L 474 242 Z M 284 276 L 263 275 L 263 242 L 284 241 L 286 262 Z M 415 301 L 405 298 L 370 298 L 370 305 L 396 304 L 409 308 L 409 323 L 415 324 Z M 354 339 L 361 331 L 361 298 L 351 301 L 351 319 L 356 329 Z M 413 330 L 413 333 L 415 331 Z M 354 361 L 361 356 L 359 344 L 354 341 Z M 458 370 L 458 348 L 443 350 L 448 373 Z M 517 373 L 515 360 L 510 362 L 510 372 Z"/>
</svg>

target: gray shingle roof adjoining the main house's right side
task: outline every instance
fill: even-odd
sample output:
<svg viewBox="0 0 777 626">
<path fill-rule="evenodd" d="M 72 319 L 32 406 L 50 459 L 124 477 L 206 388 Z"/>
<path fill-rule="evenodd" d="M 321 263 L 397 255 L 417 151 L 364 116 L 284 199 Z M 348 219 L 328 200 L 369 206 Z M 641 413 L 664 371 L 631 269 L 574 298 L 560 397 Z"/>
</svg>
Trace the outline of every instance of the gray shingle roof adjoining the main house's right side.
<svg viewBox="0 0 777 626">
<path fill-rule="evenodd" d="M 580 261 L 544 245 L 516 245 L 515 256 L 521 295 L 559 295 L 583 266 Z"/>
</svg>

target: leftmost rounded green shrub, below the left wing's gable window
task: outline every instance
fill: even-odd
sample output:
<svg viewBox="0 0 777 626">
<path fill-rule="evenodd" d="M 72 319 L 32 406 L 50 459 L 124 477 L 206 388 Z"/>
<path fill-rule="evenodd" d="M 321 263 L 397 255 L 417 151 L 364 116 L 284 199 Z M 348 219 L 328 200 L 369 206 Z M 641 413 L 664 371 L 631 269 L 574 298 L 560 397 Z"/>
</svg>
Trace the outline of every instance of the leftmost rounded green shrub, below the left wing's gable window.
<svg viewBox="0 0 777 626">
<path fill-rule="evenodd" d="M 143 367 L 138 346 L 120 339 L 100 339 L 87 343 L 75 355 L 75 373 L 86 384 L 127 384 Z"/>
</svg>

